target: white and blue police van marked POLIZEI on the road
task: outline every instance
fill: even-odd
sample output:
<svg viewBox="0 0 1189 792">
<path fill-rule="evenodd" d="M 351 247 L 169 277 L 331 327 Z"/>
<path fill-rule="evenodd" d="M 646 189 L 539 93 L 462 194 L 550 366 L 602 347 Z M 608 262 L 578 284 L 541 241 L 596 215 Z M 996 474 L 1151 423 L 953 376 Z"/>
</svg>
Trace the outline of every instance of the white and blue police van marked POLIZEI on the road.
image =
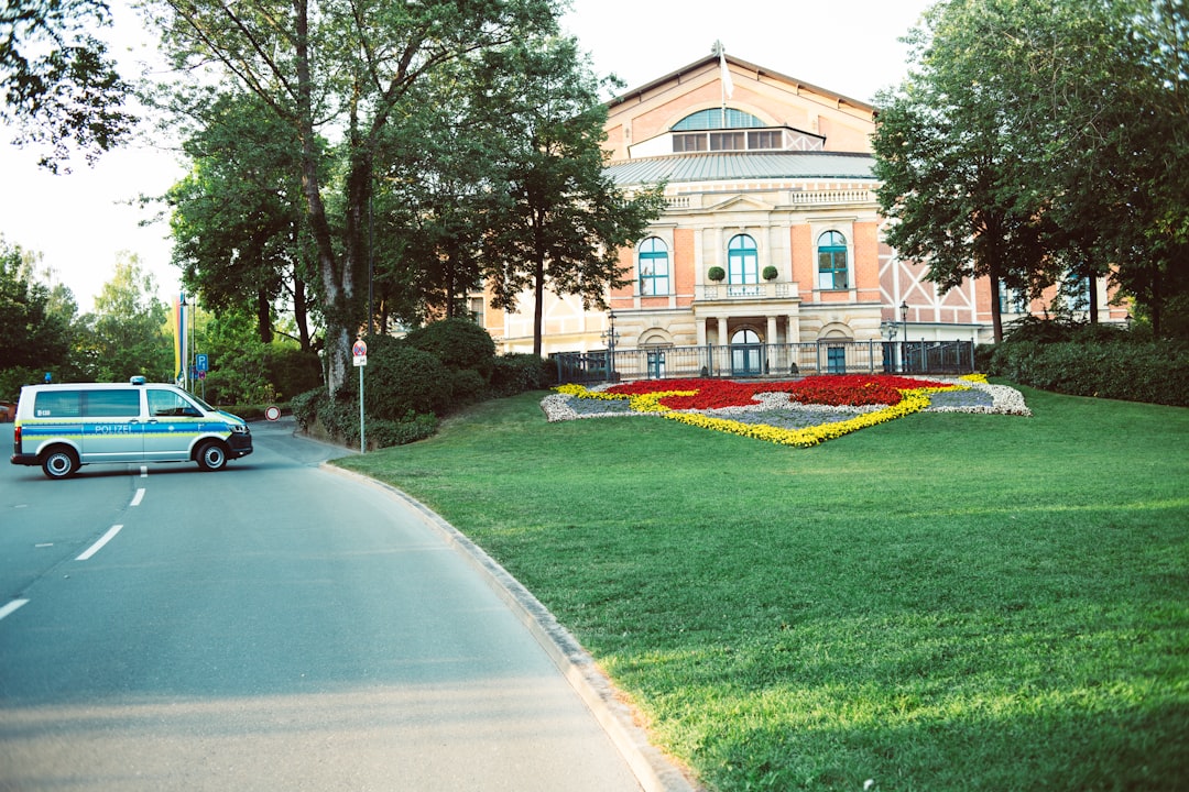
<svg viewBox="0 0 1189 792">
<path fill-rule="evenodd" d="M 127 385 L 21 388 L 11 462 L 65 479 L 80 465 L 101 462 L 194 461 L 220 470 L 251 452 L 252 433 L 241 418 L 182 388 L 133 376 Z"/>
</svg>

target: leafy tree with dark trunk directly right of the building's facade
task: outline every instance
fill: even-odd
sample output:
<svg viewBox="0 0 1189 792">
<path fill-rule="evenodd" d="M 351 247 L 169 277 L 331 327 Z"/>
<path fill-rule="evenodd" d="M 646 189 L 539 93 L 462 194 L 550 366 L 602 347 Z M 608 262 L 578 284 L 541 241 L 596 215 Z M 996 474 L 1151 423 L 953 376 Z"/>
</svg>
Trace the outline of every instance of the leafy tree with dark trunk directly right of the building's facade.
<svg viewBox="0 0 1189 792">
<path fill-rule="evenodd" d="M 952 0 L 926 12 L 907 37 L 908 77 L 877 99 L 873 139 L 888 245 L 926 262 L 925 277 L 943 291 L 989 278 L 995 341 L 1004 337 L 1001 286 L 1034 292 L 1053 279 L 1031 141 L 1020 134 L 1020 102 L 1004 89 L 1011 56 L 1002 49 L 1027 4 Z"/>
</svg>

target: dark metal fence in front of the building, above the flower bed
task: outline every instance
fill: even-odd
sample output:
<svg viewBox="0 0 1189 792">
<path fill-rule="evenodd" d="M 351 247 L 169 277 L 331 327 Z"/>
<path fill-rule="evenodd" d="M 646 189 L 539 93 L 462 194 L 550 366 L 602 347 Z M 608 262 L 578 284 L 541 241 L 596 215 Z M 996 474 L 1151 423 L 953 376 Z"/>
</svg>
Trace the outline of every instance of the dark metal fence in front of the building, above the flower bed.
<svg viewBox="0 0 1189 792">
<path fill-rule="evenodd" d="M 969 374 L 971 341 L 818 341 L 555 353 L 559 382 L 813 374 Z"/>
</svg>

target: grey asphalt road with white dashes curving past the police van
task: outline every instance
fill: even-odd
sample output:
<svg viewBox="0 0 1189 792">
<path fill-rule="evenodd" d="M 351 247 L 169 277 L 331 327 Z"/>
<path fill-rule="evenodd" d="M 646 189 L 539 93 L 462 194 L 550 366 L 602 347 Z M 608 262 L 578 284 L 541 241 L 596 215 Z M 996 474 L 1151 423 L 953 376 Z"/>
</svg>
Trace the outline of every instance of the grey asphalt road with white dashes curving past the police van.
<svg viewBox="0 0 1189 792">
<path fill-rule="evenodd" d="M 641 788 L 441 536 L 253 435 L 50 481 L 0 424 L 0 790 Z"/>
</svg>

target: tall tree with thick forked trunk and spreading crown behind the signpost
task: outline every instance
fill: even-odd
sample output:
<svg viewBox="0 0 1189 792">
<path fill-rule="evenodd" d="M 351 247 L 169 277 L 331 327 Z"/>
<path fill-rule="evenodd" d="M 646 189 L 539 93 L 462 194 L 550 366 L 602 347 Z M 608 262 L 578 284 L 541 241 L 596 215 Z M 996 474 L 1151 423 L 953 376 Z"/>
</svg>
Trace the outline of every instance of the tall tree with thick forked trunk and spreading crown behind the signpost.
<svg viewBox="0 0 1189 792">
<path fill-rule="evenodd" d="M 377 142 L 424 75 L 465 53 L 555 27 L 553 0 L 156 0 L 180 64 L 218 64 L 301 142 L 307 222 L 317 249 L 327 385 L 351 367 L 363 325 L 367 207 Z M 327 209 L 322 132 L 334 131 L 341 224 Z M 415 145 L 410 141 L 410 145 Z"/>
</svg>

